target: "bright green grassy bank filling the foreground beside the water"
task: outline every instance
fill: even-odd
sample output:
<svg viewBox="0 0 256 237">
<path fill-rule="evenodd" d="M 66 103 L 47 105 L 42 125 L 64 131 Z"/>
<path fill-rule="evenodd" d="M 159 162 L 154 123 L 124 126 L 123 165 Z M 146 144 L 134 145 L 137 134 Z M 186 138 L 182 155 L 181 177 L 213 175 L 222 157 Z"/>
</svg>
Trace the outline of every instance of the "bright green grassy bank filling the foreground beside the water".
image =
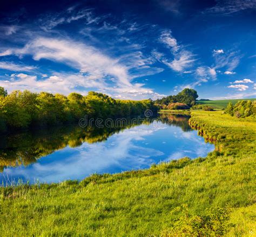
<svg viewBox="0 0 256 237">
<path fill-rule="evenodd" d="M 255 122 L 195 111 L 191 125 L 217 147 L 206 158 L 2 187 L 0 235 L 255 236 Z"/>
</svg>

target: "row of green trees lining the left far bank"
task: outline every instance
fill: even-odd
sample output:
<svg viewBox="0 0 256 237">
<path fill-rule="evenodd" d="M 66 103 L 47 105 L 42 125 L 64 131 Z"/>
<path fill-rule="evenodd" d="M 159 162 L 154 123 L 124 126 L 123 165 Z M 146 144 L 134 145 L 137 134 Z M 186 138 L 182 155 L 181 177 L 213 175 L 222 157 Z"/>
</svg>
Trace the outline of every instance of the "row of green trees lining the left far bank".
<svg viewBox="0 0 256 237">
<path fill-rule="evenodd" d="M 0 87 L 0 131 L 9 128 L 48 126 L 70 123 L 83 118 L 118 118 L 157 111 L 150 99 L 117 100 L 106 94 L 89 92 L 87 96 L 71 93 L 51 94 L 30 91 L 12 91 Z"/>
</svg>

